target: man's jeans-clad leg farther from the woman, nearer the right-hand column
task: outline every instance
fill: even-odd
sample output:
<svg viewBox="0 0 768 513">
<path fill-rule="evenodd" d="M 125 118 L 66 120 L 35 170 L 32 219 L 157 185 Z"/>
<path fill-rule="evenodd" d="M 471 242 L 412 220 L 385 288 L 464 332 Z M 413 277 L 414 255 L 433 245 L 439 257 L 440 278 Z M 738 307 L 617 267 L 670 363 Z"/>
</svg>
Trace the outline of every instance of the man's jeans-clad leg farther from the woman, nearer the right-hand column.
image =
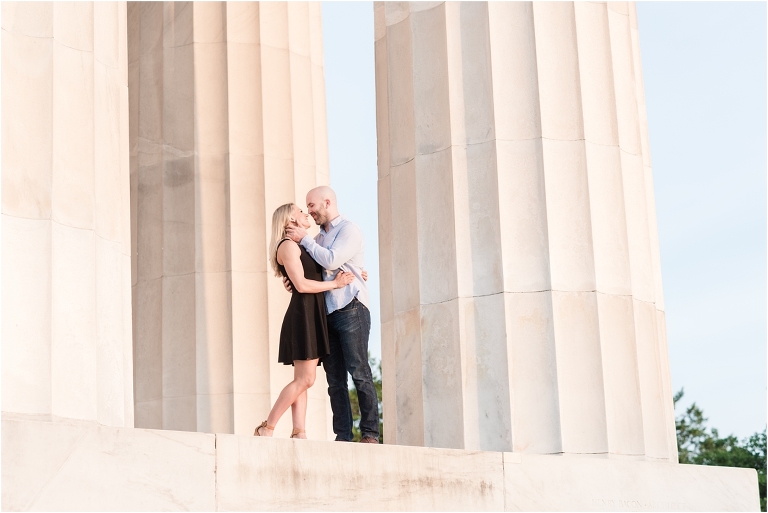
<svg viewBox="0 0 768 513">
<path fill-rule="evenodd" d="M 360 403 L 360 433 L 363 437 L 379 439 L 379 400 L 373 385 L 371 366 L 368 364 L 368 336 L 371 332 L 371 313 L 361 302 L 354 300 L 353 308 L 344 309 L 337 325 L 344 352 L 346 371 L 352 375 Z"/>
</svg>

